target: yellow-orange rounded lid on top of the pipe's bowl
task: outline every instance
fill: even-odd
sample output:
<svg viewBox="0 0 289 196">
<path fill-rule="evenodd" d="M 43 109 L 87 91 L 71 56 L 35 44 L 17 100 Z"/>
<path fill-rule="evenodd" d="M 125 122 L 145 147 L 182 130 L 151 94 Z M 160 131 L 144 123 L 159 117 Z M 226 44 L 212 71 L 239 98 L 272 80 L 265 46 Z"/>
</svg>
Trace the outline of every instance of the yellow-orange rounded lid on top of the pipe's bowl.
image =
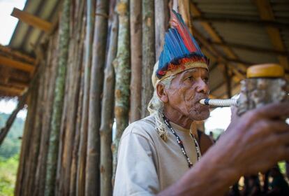
<svg viewBox="0 0 289 196">
<path fill-rule="evenodd" d="M 247 78 L 282 78 L 284 69 L 279 64 L 258 64 L 247 69 Z"/>
</svg>

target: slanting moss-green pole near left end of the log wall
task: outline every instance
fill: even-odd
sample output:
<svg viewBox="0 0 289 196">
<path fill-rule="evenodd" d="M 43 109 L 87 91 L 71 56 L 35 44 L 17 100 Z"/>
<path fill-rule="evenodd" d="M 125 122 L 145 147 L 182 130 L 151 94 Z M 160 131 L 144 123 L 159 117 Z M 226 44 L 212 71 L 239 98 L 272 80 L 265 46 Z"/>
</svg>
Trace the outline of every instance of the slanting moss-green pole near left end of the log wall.
<svg viewBox="0 0 289 196">
<path fill-rule="evenodd" d="M 45 195 L 54 195 L 54 187 L 57 171 L 57 153 L 59 150 L 59 130 L 61 126 L 61 116 L 64 101 L 64 89 L 66 78 L 66 64 L 68 57 L 69 43 L 69 22 L 70 22 L 70 3 L 64 0 L 61 23 L 59 25 L 59 67 L 58 76 L 55 85 L 55 96 L 53 102 L 53 113 L 51 120 L 50 141 L 47 153 L 47 169 L 45 179 Z"/>
</svg>

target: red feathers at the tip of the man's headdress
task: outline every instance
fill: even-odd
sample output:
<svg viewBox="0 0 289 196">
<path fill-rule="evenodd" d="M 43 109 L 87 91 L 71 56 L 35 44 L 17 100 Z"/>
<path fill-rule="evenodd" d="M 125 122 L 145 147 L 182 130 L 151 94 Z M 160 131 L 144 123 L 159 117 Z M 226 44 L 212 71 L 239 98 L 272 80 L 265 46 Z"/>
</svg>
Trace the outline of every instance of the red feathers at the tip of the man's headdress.
<svg viewBox="0 0 289 196">
<path fill-rule="evenodd" d="M 184 45 L 186 45 L 188 51 L 196 52 L 197 48 L 195 47 L 195 44 L 191 39 L 190 32 L 188 31 L 186 26 L 184 26 L 183 22 L 179 21 L 179 18 L 177 18 L 177 14 L 175 12 L 171 11 L 171 15 L 172 15 L 171 25 L 172 27 L 177 29 L 177 31 L 181 35 L 181 38 L 184 41 Z"/>
</svg>

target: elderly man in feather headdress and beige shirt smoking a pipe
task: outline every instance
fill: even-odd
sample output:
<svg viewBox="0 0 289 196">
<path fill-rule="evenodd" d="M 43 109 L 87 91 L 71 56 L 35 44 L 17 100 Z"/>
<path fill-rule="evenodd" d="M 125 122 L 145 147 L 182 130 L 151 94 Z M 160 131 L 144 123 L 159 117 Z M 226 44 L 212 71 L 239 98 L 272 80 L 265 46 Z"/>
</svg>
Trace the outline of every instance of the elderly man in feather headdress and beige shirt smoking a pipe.
<svg viewBox="0 0 289 196">
<path fill-rule="evenodd" d="M 181 16 L 172 13 L 154 66 L 151 115 L 121 137 L 114 195 L 223 195 L 240 176 L 288 160 L 289 128 L 278 119 L 289 115 L 289 104 L 247 112 L 202 156 L 191 125 L 209 117 L 209 107 L 199 104 L 209 94 L 207 64 Z"/>
</svg>

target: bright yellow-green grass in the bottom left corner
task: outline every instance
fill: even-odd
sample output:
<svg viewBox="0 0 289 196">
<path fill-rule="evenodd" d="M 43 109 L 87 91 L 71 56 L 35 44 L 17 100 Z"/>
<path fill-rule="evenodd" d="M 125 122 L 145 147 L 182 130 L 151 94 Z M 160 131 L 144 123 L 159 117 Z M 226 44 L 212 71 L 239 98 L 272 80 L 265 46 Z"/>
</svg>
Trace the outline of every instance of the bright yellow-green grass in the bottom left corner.
<svg viewBox="0 0 289 196">
<path fill-rule="evenodd" d="M 19 153 L 11 158 L 0 158 L 0 196 L 12 196 L 15 188 Z"/>
</svg>

